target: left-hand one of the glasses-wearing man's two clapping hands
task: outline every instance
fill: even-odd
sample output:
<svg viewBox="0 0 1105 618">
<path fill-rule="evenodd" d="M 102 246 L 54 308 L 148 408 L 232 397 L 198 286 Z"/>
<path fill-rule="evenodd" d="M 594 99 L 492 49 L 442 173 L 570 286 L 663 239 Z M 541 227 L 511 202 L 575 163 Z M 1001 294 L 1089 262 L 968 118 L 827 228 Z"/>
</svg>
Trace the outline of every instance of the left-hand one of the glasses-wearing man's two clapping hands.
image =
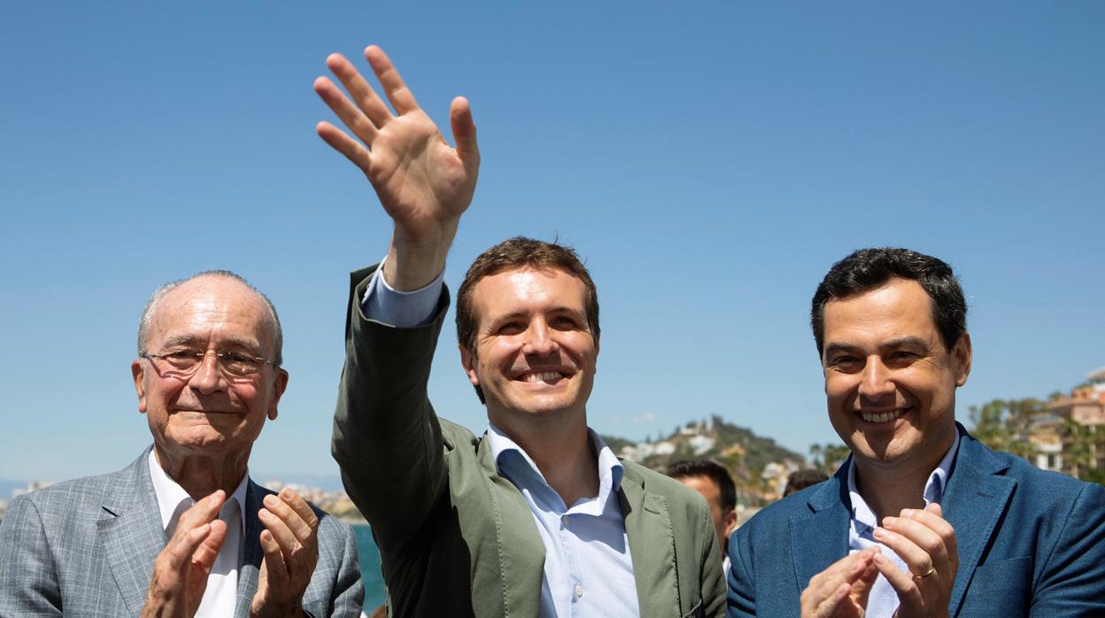
<svg viewBox="0 0 1105 618">
<path fill-rule="evenodd" d="M 180 515 L 172 538 L 154 562 L 143 618 L 196 615 L 208 574 L 227 538 L 227 524 L 218 519 L 225 499 L 225 492 L 218 490 Z"/>
</svg>

